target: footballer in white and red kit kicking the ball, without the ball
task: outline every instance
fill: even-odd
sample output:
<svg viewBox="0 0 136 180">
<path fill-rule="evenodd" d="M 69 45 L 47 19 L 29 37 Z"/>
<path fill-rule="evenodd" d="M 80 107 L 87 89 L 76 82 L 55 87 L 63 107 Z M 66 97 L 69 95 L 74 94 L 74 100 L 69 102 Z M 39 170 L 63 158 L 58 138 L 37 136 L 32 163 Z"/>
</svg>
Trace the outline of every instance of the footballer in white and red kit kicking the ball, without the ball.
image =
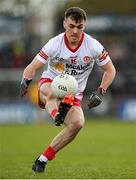
<svg viewBox="0 0 136 180">
<path fill-rule="evenodd" d="M 116 70 L 108 52 L 99 41 L 85 33 L 86 18 L 86 12 L 79 7 L 67 9 L 63 21 L 65 32 L 51 38 L 24 69 L 21 96 L 27 93 L 38 69 L 47 66 L 38 82 L 39 106 L 50 114 L 56 126 L 64 124 L 63 130 L 34 161 L 34 172 L 44 172 L 47 162 L 53 160 L 83 128 L 85 119 L 81 102 L 94 64 L 103 70 L 103 75 L 99 87 L 90 95 L 89 108 L 101 103 L 101 96 L 115 77 Z M 75 96 L 69 94 L 61 100 L 52 96 L 51 82 L 59 74 L 70 74 L 76 79 L 78 91 Z"/>
</svg>

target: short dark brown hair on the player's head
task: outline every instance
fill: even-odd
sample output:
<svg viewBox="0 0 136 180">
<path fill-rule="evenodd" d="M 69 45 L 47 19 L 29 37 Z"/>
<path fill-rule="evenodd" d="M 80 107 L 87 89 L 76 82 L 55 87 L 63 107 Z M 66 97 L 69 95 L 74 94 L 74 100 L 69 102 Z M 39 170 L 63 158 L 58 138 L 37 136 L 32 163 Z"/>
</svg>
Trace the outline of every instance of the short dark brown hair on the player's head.
<svg viewBox="0 0 136 180">
<path fill-rule="evenodd" d="M 76 23 L 87 19 L 86 12 L 79 7 L 71 7 L 65 11 L 65 19 L 72 18 Z"/>
</svg>

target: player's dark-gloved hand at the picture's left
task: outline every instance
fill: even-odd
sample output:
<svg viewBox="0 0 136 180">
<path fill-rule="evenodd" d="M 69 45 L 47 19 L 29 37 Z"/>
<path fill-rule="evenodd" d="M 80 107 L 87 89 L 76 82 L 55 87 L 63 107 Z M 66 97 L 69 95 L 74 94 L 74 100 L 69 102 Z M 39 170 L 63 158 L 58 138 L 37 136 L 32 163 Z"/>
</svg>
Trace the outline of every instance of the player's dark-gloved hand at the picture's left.
<svg viewBox="0 0 136 180">
<path fill-rule="evenodd" d="M 27 93 L 27 89 L 32 79 L 23 79 L 20 84 L 20 96 L 23 97 Z"/>
</svg>

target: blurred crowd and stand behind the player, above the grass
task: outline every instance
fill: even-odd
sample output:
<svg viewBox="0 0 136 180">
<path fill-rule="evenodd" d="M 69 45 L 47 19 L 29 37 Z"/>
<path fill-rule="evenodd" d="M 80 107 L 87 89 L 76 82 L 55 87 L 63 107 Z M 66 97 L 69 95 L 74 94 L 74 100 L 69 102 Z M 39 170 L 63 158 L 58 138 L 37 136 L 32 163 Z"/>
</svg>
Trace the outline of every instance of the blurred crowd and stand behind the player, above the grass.
<svg viewBox="0 0 136 180">
<path fill-rule="evenodd" d="M 87 100 L 102 74 L 94 68 L 84 93 L 85 115 L 136 121 L 135 0 L 0 0 L 0 122 L 46 119 L 45 111 L 37 106 L 37 80 L 42 70 L 24 99 L 19 97 L 20 81 L 42 46 L 64 31 L 64 11 L 71 6 L 87 12 L 85 32 L 104 45 L 117 70 L 103 103 L 88 111 Z"/>
</svg>

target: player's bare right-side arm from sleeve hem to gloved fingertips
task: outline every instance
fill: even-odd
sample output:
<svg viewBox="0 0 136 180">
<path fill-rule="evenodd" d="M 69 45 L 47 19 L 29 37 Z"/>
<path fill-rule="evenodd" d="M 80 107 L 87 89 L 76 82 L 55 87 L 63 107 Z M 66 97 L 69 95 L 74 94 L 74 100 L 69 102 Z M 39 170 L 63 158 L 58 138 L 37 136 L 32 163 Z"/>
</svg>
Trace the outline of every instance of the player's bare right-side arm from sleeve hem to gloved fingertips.
<svg viewBox="0 0 136 180">
<path fill-rule="evenodd" d="M 101 96 L 106 93 L 107 88 L 110 86 L 116 75 L 116 70 L 111 59 L 105 65 L 101 66 L 101 68 L 104 71 L 102 81 L 97 91 L 93 92 L 89 98 L 89 108 L 93 108 L 101 104 Z"/>
</svg>

